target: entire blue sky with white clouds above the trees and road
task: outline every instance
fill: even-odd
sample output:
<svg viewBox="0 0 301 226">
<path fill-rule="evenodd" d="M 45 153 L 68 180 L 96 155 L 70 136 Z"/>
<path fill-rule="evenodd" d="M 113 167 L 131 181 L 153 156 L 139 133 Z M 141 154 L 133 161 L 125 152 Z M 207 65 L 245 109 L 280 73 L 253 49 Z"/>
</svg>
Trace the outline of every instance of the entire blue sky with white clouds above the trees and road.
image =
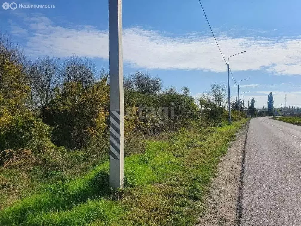
<svg viewBox="0 0 301 226">
<path fill-rule="evenodd" d="M 15 1 L 55 8 L 0 10 L 1 30 L 35 59 L 72 55 L 94 58 L 108 69 L 108 1 Z M 10 3 L 10 2 L 9 2 Z M 256 107 L 273 92 L 274 105 L 301 106 L 301 2 L 202 1 L 225 58 L 245 100 Z M 123 1 L 124 74 L 148 71 L 164 87 L 188 86 L 195 97 L 213 82 L 227 82 L 227 67 L 198 0 Z M 237 96 L 231 78 L 231 98 Z M 247 102 L 247 101 L 245 101 Z"/>
</svg>

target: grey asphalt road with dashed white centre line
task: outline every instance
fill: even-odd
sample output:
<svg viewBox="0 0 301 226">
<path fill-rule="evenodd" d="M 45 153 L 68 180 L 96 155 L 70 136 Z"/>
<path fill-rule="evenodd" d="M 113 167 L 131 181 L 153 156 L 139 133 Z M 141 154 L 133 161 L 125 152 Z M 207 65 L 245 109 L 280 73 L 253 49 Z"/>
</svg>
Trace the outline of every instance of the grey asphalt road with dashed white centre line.
<svg viewBox="0 0 301 226">
<path fill-rule="evenodd" d="M 242 225 L 301 225 L 301 126 L 250 121 L 242 192 Z"/>
</svg>

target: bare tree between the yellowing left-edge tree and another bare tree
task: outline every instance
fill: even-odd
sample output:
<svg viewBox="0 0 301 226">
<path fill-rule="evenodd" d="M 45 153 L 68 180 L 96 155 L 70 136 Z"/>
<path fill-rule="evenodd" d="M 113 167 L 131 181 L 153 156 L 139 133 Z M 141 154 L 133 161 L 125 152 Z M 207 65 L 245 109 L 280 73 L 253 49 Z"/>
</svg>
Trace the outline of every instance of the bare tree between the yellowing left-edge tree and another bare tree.
<svg viewBox="0 0 301 226">
<path fill-rule="evenodd" d="M 31 95 L 35 108 L 41 109 L 55 96 L 54 90 L 61 86 L 61 65 L 58 58 L 42 57 L 30 67 Z"/>
</svg>

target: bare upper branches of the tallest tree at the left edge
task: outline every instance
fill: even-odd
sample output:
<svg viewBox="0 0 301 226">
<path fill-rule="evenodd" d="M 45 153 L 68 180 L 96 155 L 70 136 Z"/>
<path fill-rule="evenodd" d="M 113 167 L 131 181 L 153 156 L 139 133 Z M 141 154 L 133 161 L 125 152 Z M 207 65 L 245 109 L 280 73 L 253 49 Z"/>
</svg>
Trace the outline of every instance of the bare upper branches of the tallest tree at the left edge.
<svg viewBox="0 0 301 226">
<path fill-rule="evenodd" d="M 12 97 L 15 92 L 28 92 L 24 89 L 29 83 L 28 66 L 29 61 L 19 46 L 9 35 L 0 32 L 0 92 L 5 98 Z"/>
</svg>

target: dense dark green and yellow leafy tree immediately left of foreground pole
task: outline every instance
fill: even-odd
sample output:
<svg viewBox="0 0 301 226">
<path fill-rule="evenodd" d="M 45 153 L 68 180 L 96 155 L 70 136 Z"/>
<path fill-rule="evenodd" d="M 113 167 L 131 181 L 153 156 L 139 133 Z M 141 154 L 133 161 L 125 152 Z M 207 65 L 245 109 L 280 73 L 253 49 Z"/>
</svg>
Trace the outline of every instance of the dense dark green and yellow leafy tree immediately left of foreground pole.
<svg viewBox="0 0 301 226">
<path fill-rule="evenodd" d="M 107 130 L 109 86 L 105 79 L 83 88 L 80 82 L 65 83 L 42 109 L 44 123 L 54 127 L 52 140 L 67 147 L 98 142 Z"/>
</svg>

